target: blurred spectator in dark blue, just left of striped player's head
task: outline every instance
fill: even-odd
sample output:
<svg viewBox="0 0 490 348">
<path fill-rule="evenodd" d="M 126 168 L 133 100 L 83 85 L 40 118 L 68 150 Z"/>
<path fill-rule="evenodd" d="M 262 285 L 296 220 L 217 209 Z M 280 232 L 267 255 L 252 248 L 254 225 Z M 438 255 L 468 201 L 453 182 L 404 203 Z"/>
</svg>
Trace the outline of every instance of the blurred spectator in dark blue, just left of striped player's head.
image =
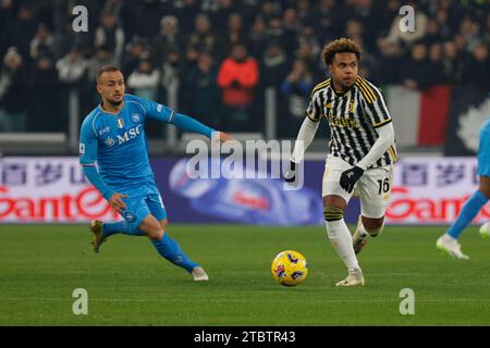
<svg viewBox="0 0 490 348">
<path fill-rule="evenodd" d="M 301 59 L 294 61 L 292 71 L 281 85 L 281 95 L 286 104 L 289 116 L 281 122 L 280 136 L 294 137 L 305 119 L 309 96 L 315 86 L 314 76 Z"/>
</svg>

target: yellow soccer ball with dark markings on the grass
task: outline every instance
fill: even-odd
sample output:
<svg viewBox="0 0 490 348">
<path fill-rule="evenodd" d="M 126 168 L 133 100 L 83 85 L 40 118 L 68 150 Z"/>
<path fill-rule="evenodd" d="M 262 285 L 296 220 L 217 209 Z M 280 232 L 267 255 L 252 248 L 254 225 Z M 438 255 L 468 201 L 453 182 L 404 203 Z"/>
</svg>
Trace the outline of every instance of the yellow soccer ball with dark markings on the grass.
<svg viewBox="0 0 490 348">
<path fill-rule="evenodd" d="M 296 286 L 306 279 L 308 263 L 303 254 L 294 250 L 278 253 L 271 265 L 272 277 L 284 286 Z"/>
</svg>

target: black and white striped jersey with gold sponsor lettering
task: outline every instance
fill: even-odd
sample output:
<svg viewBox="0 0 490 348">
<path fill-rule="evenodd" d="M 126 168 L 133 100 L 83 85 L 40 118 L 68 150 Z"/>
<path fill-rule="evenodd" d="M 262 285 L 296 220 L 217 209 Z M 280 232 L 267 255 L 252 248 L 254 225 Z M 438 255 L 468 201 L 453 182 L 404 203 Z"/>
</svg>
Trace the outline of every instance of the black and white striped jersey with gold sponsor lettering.
<svg viewBox="0 0 490 348">
<path fill-rule="evenodd" d="M 311 91 L 306 115 L 315 122 L 324 116 L 330 126 L 330 153 L 351 165 L 356 165 L 378 139 L 376 128 L 392 122 L 379 88 L 358 76 L 345 92 L 332 89 L 331 78 L 318 84 Z M 393 144 L 369 167 L 396 162 Z"/>
</svg>

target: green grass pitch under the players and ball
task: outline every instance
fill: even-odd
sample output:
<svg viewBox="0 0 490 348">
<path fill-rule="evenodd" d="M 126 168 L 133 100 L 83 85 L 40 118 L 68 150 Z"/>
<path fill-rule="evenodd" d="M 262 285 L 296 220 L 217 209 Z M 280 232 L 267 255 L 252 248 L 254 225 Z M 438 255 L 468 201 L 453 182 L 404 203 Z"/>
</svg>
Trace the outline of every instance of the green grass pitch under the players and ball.
<svg viewBox="0 0 490 348">
<path fill-rule="evenodd" d="M 95 254 L 82 225 L 0 225 L 0 325 L 489 325 L 490 241 L 471 227 L 468 261 L 436 251 L 443 227 L 387 226 L 359 254 L 366 286 L 338 288 L 346 271 L 322 227 L 171 225 L 203 263 L 207 283 L 161 259 L 146 237 L 117 235 Z M 308 278 L 272 281 L 284 249 L 302 252 Z M 75 315 L 75 288 L 88 314 Z M 415 314 L 399 311 L 403 288 Z"/>
</svg>

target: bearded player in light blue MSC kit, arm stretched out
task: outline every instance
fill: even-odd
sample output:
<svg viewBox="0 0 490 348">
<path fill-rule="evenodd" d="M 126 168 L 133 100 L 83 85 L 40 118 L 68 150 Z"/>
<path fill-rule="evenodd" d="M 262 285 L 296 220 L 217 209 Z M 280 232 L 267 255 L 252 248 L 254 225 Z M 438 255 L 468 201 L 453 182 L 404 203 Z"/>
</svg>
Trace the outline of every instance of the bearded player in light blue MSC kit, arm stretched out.
<svg viewBox="0 0 490 348">
<path fill-rule="evenodd" d="M 185 269 L 194 281 L 208 281 L 203 266 L 191 261 L 166 232 L 167 212 L 149 164 L 144 127 L 152 117 L 212 141 L 231 140 L 230 136 L 166 105 L 125 95 L 124 77 L 117 66 L 100 69 L 97 91 L 102 102 L 82 124 L 79 162 L 89 182 L 124 220 L 91 222 L 94 251 L 114 234 L 148 236 L 163 258 Z"/>
</svg>

